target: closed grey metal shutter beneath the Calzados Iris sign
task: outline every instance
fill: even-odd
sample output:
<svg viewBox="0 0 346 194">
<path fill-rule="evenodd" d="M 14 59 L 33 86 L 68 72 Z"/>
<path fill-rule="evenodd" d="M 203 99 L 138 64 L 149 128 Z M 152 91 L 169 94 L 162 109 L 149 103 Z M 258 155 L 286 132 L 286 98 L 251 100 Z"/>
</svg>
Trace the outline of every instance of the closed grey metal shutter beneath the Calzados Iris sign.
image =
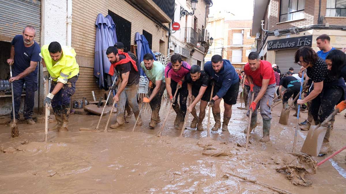
<svg viewBox="0 0 346 194">
<path fill-rule="evenodd" d="M 298 49 L 278 50 L 275 54 L 275 64 L 279 66 L 281 74 L 286 73 L 290 67 L 293 67 L 294 73 L 297 74 L 300 66 L 294 63 L 294 55 Z"/>
</svg>

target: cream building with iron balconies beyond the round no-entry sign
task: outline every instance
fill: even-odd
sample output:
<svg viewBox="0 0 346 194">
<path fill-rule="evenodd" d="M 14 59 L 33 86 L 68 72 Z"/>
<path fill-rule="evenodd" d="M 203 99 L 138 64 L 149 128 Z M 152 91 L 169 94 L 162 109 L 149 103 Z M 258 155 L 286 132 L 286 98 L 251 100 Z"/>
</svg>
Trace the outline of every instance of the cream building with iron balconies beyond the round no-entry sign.
<svg viewBox="0 0 346 194">
<path fill-rule="evenodd" d="M 179 23 L 180 30 L 171 32 L 170 53 L 177 53 L 190 65 L 199 65 L 202 68 L 204 55 L 209 48 L 206 22 L 211 5 L 212 0 L 200 0 L 194 12 L 189 0 L 175 0 L 174 6 L 174 22 Z M 193 14 L 181 14 L 182 10 Z"/>
</svg>

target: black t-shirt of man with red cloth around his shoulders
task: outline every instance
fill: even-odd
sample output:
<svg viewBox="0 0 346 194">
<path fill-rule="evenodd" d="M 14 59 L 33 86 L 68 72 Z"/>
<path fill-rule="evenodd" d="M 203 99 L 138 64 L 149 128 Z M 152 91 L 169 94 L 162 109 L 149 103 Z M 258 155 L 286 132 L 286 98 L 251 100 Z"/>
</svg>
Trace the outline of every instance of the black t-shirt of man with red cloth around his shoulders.
<svg viewBox="0 0 346 194">
<path fill-rule="evenodd" d="M 125 59 L 125 55 L 119 55 L 120 60 Z M 134 84 L 139 83 L 139 72 L 135 70 L 135 68 L 132 66 L 131 62 L 124 63 L 121 65 L 117 65 L 117 71 L 119 73 L 119 77 L 121 78 L 121 74 L 124 74 L 128 71 L 130 71 L 129 79 L 127 81 L 126 87 L 130 87 Z"/>
</svg>

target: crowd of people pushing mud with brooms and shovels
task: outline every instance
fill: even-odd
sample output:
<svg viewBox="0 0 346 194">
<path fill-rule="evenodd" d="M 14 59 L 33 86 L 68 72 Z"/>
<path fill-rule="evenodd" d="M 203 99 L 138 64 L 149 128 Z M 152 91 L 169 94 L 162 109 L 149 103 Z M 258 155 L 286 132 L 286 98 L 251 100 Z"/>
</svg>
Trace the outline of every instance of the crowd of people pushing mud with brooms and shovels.
<svg viewBox="0 0 346 194">
<path fill-rule="evenodd" d="M 73 48 L 61 46 L 58 42 L 51 42 L 39 48 L 34 41 L 35 28 L 27 26 L 22 35 L 12 40 L 11 57 L 7 60 L 13 65 L 13 77 L 9 79 L 15 88 L 15 115 L 19 119 L 20 95 L 24 83 L 26 84 L 26 99 L 24 117 L 28 124 L 35 124 L 32 120 L 34 92 L 37 90 L 37 63 L 42 60 L 43 74 L 46 79 L 52 78 L 51 90 L 44 100 L 44 104 L 52 105 L 57 125 L 52 129 L 68 130 L 70 101 L 79 76 L 79 66 L 76 62 L 76 53 Z M 160 123 L 161 99 L 166 90 L 172 107 L 176 113 L 174 126 L 182 129 L 186 113 L 193 115 L 191 128 L 204 130 L 202 122 L 206 115 L 206 107 L 212 108 L 215 120 L 212 131 L 228 131 L 228 123 L 232 116 L 232 106 L 237 103 L 239 82 L 243 88 L 247 116 L 252 113 L 250 132 L 257 126 L 257 109 L 263 120 L 263 137 L 261 142 L 270 141 L 271 106 L 275 98 L 282 99 L 283 108 L 288 107 L 289 99 L 299 95 L 302 84 L 302 99 L 294 102 L 295 114 L 298 116 L 297 106 L 308 108 L 308 118 L 302 122 L 302 130 L 308 130 L 312 120 L 315 124 L 322 123 L 333 111 L 335 106 L 339 112 L 346 107 L 346 55 L 345 51 L 330 46 L 330 38 L 320 35 L 316 39 L 320 51 L 317 53 L 307 46 L 300 47 L 295 53 L 294 62 L 301 68 L 298 74 L 294 69 L 282 73 L 279 66 L 261 60 L 257 52 L 248 55 L 248 63 L 241 75 L 238 75 L 229 60 L 214 55 L 211 61 L 200 66 L 190 66 L 183 61 L 179 54 L 174 54 L 171 61 L 164 66 L 154 60 L 151 54 L 144 55 L 143 61 L 137 66 L 136 61 L 124 52 L 124 46 L 117 42 L 107 49 L 106 55 L 111 63 L 109 74 L 118 74 L 118 81 L 110 89 L 116 89 L 113 100 L 117 103 L 116 123 L 111 128 L 118 128 L 125 124 L 125 110 L 133 111 L 138 119 L 137 125 L 143 122 L 138 107 L 137 91 L 139 87 L 139 68 L 142 68 L 149 80 L 147 97 L 143 103 L 149 103 L 152 114 L 149 127 L 155 128 Z M 303 83 L 301 83 L 303 82 Z M 178 100 L 179 99 L 179 100 Z M 224 112 L 221 125 L 220 102 L 224 100 Z M 277 100 L 275 99 L 275 100 Z M 200 102 L 199 114 L 195 106 Z M 328 125 L 321 153 L 330 150 L 329 137 L 334 119 Z M 247 133 L 247 129 L 244 130 Z"/>
</svg>

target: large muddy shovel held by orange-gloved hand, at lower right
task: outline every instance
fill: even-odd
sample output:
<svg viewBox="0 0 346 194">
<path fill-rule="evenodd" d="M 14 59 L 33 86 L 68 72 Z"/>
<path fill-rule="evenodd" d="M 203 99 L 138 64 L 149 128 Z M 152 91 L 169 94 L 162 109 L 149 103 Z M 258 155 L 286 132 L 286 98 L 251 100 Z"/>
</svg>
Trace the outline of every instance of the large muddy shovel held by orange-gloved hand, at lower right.
<svg viewBox="0 0 346 194">
<path fill-rule="evenodd" d="M 335 109 L 333 113 L 331 113 L 321 124 L 310 126 L 308 135 L 305 138 L 301 152 L 312 156 L 318 156 L 318 154 L 320 153 L 324 136 L 326 135 L 328 129 L 325 126 L 330 121 L 330 119 L 337 113 L 339 113 L 338 108 Z"/>
</svg>

